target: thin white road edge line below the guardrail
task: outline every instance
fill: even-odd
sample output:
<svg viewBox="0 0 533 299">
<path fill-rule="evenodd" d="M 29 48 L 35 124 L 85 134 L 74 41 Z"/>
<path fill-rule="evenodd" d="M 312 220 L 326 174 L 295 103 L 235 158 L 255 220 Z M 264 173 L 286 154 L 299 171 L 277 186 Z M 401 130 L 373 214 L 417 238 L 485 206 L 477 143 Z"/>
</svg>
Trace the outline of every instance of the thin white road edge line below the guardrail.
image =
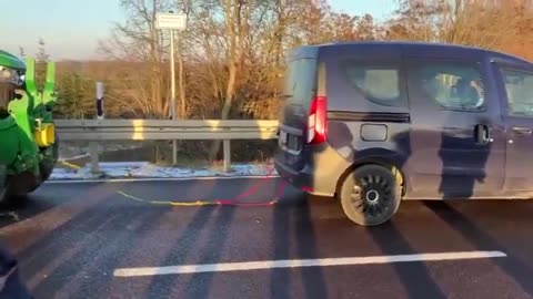
<svg viewBox="0 0 533 299">
<path fill-rule="evenodd" d="M 279 175 L 249 175 L 249 176 L 189 176 L 189 177 L 137 177 L 137 178 L 88 178 L 88 179 L 50 179 L 44 184 L 87 184 L 87 183 L 130 183 L 130 182 L 181 182 L 181 181 L 213 181 L 213 179 L 247 179 L 247 178 L 278 178 Z"/>
</svg>

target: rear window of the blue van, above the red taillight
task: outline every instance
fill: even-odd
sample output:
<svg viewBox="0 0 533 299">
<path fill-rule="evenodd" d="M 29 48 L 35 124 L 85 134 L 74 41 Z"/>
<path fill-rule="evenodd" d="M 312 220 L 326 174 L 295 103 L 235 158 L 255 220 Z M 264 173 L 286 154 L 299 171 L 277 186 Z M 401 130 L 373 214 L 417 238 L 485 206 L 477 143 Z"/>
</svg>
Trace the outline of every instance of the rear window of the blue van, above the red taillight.
<svg viewBox="0 0 533 299">
<path fill-rule="evenodd" d="M 292 60 L 289 62 L 285 74 L 286 104 L 308 106 L 314 96 L 316 85 L 316 60 Z"/>
</svg>

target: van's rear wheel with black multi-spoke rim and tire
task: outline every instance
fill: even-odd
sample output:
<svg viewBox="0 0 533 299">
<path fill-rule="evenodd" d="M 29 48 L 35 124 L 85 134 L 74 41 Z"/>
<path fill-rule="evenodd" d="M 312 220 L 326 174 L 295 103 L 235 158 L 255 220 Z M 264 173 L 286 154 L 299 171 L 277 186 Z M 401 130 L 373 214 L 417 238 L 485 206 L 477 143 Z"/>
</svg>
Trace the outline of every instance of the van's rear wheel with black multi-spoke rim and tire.
<svg viewBox="0 0 533 299">
<path fill-rule="evenodd" d="M 379 165 L 364 165 L 353 171 L 339 193 L 344 214 L 362 226 L 376 226 L 391 219 L 401 198 L 401 177 Z"/>
</svg>

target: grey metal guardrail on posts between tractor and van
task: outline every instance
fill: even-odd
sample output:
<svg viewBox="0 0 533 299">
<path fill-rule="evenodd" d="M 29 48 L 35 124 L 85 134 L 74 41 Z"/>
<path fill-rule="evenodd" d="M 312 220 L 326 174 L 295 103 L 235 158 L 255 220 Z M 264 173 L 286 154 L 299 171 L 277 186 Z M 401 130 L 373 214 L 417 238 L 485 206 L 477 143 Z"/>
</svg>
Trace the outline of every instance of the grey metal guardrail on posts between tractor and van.
<svg viewBox="0 0 533 299">
<path fill-rule="evenodd" d="M 89 141 L 91 171 L 99 173 L 98 143 L 104 141 L 223 141 L 224 171 L 231 169 L 231 140 L 275 140 L 278 121 L 235 120 L 56 120 L 60 141 Z"/>
</svg>

